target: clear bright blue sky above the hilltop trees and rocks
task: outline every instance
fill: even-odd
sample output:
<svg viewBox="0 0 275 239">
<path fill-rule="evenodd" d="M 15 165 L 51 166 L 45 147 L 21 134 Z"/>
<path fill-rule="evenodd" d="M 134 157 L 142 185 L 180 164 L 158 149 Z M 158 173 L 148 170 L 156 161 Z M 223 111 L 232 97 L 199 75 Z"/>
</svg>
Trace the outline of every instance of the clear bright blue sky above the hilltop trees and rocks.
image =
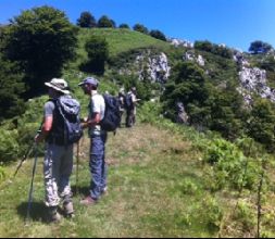
<svg viewBox="0 0 275 239">
<path fill-rule="evenodd" d="M 140 23 L 189 41 L 247 51 L 252 41 L 262 40 L 275 48 L 275 0 L 0 0 L 0 23 L 45 4 L 64 11 L 72 23 L 89 11 L 96 20 L 108 15 L 117 26 Z"/>
</svg>

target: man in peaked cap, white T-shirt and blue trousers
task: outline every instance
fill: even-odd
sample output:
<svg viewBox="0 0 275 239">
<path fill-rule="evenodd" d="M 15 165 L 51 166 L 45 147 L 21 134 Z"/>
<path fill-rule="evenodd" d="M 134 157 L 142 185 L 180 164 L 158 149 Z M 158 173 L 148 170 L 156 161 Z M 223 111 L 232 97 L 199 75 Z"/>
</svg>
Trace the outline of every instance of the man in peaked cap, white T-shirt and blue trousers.
<svg viewBox="0 0 275 239">
<path fill-rule="evenodd" d="M 78 84 L 85 95 L 89 96 L 88 117 L 83 122 L 83 128 L 89 129 L 90 137 L 90 190 L 89 194 L 80 201 L 80 204 L 91 205 L 98 202 L 100 197 L 107 192 L 107 163 L 105 163 L 105 142 L 107 131 L 99 125 L 105 111 L 104 98 L 98 93 L 98 80 L 87 77 Z"/>
</svg>

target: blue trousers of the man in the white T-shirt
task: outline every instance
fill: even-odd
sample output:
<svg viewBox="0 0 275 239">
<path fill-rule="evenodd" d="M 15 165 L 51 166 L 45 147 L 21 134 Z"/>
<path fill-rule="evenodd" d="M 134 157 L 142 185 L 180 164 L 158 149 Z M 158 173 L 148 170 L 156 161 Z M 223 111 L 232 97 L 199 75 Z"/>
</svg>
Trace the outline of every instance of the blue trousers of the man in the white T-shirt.
<svg viewBox="0 0 275 239">
<path fill-rule="evenodd" d="M 102 159 L 103 159 L 104 143 L 101 136 L 93 136 L 91 138 L 90 147 L 90 197 L 98 200 L 101 194 L 101 178 L 102 178 Z"/>
</svg>

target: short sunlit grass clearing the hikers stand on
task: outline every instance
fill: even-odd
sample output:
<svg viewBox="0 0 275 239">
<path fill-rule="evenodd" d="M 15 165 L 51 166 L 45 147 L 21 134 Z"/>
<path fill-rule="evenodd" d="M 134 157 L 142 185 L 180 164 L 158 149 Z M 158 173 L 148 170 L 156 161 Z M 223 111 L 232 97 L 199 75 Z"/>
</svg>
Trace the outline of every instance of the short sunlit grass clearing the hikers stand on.
<svg viewBox="0 0 275 239">
<path fill-rule="evenodd" d="M 133 129 L 122 128 L 115 137 L 110 135 L 107 147 L 109 194 L 97 205 L 84 207 L 79 200 L 87 192 L 90 179 L 88 144 L 86 138 L 79 167 L 80 194 L 73 199 L 76 217 L 58 225 L 45 222 L 42 159 L 39 159 L 32 222 L 24 226 L 33 166 L 29 159 L 15 179 L 1 185 L 1 237 L 213 236 L 211 231 L 199 229 L 203 222 L 197 223 L 191 216 L 201 207 L 200 193 L 191 196 L 180 191 L 186 175 L 200 190 L 201 178 L 191 169 L 197 165 L 197 155 L 189 154 L 189 143 L 143 124 Z M 171 154 L 175 147 L 183 148 L 179 154 Z M 75 186 L 75 172 L 72 185 Z"/>
</svg>

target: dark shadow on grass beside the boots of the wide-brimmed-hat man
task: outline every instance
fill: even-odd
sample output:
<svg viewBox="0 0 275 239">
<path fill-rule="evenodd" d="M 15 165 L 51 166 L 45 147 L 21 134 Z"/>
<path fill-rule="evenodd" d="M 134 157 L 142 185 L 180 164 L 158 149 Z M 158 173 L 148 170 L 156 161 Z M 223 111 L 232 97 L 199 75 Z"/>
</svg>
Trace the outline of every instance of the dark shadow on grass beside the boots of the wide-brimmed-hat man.
<svg viewBox="0 0 275 239">
<path fill-rule="evenodd" d="M 18 215 L 25 221 L 27 219 L 27 206 L 28 206 L 27 202 L 23 202 L 17 206 Z M 32 203 L 28 219 L 34 221 L 34 222 L 47 223 L 46 215 L 47 215 L 47 209 L 42 202 Z"/>
</svg>

